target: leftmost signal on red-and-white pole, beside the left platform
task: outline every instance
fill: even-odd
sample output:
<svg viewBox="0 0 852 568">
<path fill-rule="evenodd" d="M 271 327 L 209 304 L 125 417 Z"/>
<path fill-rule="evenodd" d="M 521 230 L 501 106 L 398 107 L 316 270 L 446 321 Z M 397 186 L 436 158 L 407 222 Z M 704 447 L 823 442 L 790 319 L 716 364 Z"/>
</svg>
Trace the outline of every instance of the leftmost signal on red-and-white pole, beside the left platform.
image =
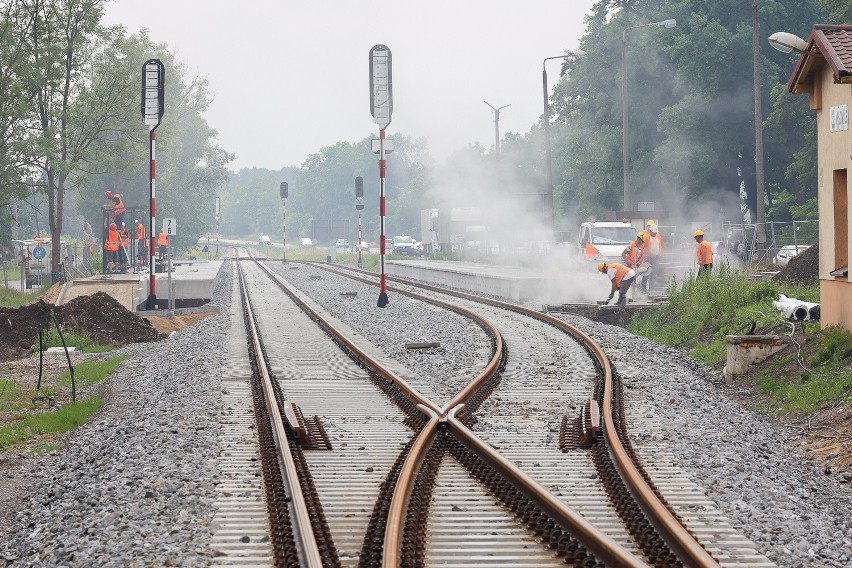
<svg viewBox="0 0 852 568">
<path fill-rule="evenodd" d="M 151 210 L 148 219 L 148 235 L 151 238 L 148 247 L 148 300 L 145 307 L 149 310 L 157 307 L 157 281 L 154 251 L 157 250 L 157 169 L 156 169 L 156 136 L 154 131 L 160 125 L 160 120 L 165 112 L 165 84 L 166 70 L 159 59 L 149 59 L 142 65 L 142 120 L 148 127 L 149 153 L 151 156 L 151 170 L 149 178 L 149 194 L 151 196 Z"/>
</svg>

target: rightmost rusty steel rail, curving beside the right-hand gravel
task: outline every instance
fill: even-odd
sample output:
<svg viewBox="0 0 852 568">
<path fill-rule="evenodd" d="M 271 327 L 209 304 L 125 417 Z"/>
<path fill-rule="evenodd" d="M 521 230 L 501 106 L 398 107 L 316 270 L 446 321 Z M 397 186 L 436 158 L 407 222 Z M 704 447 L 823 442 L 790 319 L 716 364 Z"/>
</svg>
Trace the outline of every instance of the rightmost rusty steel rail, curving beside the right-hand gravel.
<svg viewBox="0 0 852 568">
<path fill-rule="evenodd" d="M 325 268 L 326 270 L 330 270 L 329 268 L 324 267 L 322 265 L 317 266 Z M 365 273 L 364 271 L 359 271 L 357 269 L 352 269 L 348 267 L 346 268 L 346 270 Z M 597 344 L 594 339 L 591 338 L 591 336 L 589 336 L 579 328 L 559 318 L 535 311 L 524 306 L 520 306 L 518 304 L 512 304 L 510 302 L 504 302 L 501 300 L 494 300 L 492 298 L 487 298 L 483 296 L 476 296 L 474 294 L 467 294 L 456 290 L 445 289 L 438 286 L 432 286 L 430 284 L 424 284 L 422 282 L 407 280 L 405 278 L 388 277 L 388 280 L 398 282 L 400 284 L 414 286 L 417 288 L 431 290 L 440 294 L 455 296 L 474 302 L 484 303 L 490 306 L 523 314 L 528 317 L 553 325 L 554 327 L 578 339 L 597 360 L 603 373 L 604 393 L 601 414 L 604 418 L 604 434 L 607 442 L 607 451 L 613 461 L 613 464 L 616 467 L 616 470 L 618 471 L 619 475 L 627 486 L 628 491 L 630 491 L 630 494 L 636 500 L 648 521 L 659 532 L 662 539 L 672 549 L 672 552 L 677 555 L 680 561 L 684 563 L 685 566 L 696 568 L 710 568 L 719 566 L 719 563 L 710 555 L 710 553 L 707 552 L 707 550 L 704 549 L 704 547 L 695 539 L 695 537 L 689 532 L 689 530 L 687 530 L 687 528 L 683 526 L 680 520 L 675 517 L 675 515 L 668 508 L 665 501 L 663 501 L 661 497 L 657 496 L 657 494 L 654 492 L 654 489 L 644 479 L 642 474 L 639 472 L 636 464 L 633 463 L 633 460 L 630 458 L 629 454 L 625 450 L 613 421 L 612 366 L 609 362 L 609 358 L 606 356 L 603 349 L 600 347 L 600 345 Z M 375 282 L 372 281 L 370 283 L 375 284 Z M 402 292 L 401 290 L 395 291 L 397 293 Z"/>
</svg>

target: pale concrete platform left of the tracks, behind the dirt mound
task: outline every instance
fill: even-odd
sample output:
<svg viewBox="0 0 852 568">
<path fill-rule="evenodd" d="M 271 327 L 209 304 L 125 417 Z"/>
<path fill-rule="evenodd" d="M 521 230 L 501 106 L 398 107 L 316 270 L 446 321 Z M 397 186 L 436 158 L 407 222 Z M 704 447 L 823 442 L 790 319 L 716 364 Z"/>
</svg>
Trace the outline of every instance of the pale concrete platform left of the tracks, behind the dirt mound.
<svg viewBox="0 0 852 568">
<path fill-rule="evenodd" d="M 213 282 L 222 267 L 222 262 L 221 260 L 175 261 L 172 264 L 171 287 L 169 287 L 168 273 L 155 274 L 158 309 L 168 309 L 170 297 L 174 298 L 176 308 L 200 306 L 209 302 L 213 294 Z M 78 296 L 104 292 L 130 311 L 142 310 L 148 299 L 149 280 L 147 272 L 98 274 L 76 279 L 63 285 L 57 304 L 66 304 Z"/>
</svg>

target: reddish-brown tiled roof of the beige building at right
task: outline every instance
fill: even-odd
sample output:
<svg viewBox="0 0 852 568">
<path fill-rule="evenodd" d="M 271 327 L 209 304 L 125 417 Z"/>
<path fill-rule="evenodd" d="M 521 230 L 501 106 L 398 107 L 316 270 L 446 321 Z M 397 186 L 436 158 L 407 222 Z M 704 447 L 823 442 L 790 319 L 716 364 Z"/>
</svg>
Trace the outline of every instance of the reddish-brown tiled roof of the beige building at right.
<svg viewBox="0 0 852 568">
<path fill-rule="evenodd" d="M 835 83 L 852 83 L 852 25 L 817 24 L 806 43 L 787 83 L 791 93 L 810 92 L 812 74 L 824 65 L 831 67 Z"/>
</svg>

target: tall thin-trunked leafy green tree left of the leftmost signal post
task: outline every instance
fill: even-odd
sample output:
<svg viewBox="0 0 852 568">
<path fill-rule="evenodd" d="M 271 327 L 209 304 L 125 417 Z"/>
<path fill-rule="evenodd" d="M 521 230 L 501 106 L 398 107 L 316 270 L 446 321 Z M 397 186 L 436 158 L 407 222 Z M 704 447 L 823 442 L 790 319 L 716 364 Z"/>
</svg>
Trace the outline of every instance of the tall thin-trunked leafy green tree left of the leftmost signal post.
<svg viewBox="0 0 852 568">
<path fill-rule="evenodd" d="M 41 172 L 50 234 L 58 243 L 65 192 L 93 158 L 97 142 L 120 124 L 131 89 L 120 77 L 96 72 L 109 61 L 112 47 L 98 42 L 102 0 L 21 0 L 17 7 L 15 24 L 32 69 L 22 78 L 35 93 L 32 163 Z M 52 247 L 54 279 L 60 252 Z"/>
</svg>

